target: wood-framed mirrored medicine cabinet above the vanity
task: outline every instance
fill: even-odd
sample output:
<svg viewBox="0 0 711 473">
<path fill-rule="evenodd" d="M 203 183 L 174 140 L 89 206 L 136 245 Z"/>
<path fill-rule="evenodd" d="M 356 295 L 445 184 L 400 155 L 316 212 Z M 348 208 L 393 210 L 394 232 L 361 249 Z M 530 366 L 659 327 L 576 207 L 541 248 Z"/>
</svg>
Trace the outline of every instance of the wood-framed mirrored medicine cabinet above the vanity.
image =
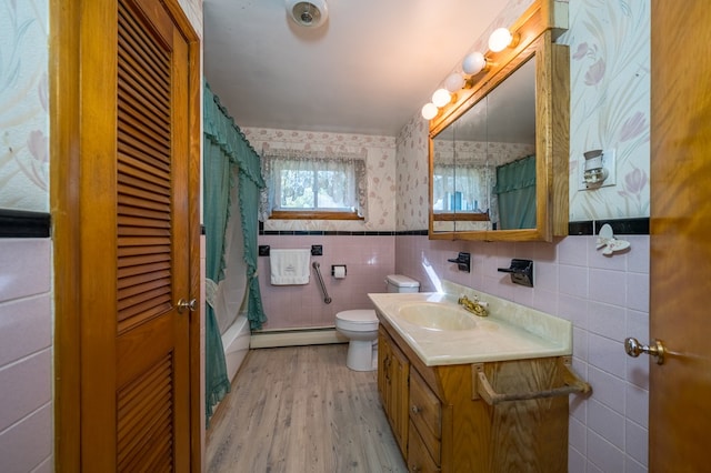
<svg viewBox="0 0 711 473">
<path fill-rule="evenodd" d="M 564 9 L 564 11 L 561 11 Z M 430 121 L 432 240 L 552 241 L 568 234 L 567 3 L 535 1 Z"/>
</svg>

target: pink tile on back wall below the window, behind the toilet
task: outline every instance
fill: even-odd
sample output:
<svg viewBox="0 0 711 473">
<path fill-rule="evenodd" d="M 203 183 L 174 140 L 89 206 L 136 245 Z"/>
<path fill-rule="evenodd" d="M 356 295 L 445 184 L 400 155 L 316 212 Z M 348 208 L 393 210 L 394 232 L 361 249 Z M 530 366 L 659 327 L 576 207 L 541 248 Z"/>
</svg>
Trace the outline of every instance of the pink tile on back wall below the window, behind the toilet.
<svg viewBox="0 0 711 473">
<path fill-rule="evenodd" d="M 310 249 L 323 245 L 322 256 L 311 256 L 321 265 L 330 304 L 323 302 L 313 269 L 309 284 L 271 285 L 269 258 L 258 261 L 259 285 L 267 314 L 264 330 L 333 326 L 336 313 L 371 309 L 369 292 L 383 292 L 384 279 L 394 270 L 394 238 L 391 235 L 260 235 L 259 244 L 272 249 Z M 331 276 L 332 264 L 346 264 L 346 279 Z"/>
</svg>

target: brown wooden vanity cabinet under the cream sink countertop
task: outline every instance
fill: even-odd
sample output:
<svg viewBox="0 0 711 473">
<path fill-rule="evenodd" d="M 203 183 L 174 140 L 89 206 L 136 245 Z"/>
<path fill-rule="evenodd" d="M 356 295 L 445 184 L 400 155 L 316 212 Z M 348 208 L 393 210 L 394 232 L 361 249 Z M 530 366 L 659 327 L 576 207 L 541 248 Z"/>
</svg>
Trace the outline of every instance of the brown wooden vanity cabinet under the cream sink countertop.
<svg viewBox="0 0 711 473">
<path fill-rule="evenodd" d="M 378 388 L 411 472 L 565 472 L 568 396 L 490 405 L 478 370 L 500 392 L 560 384 L 557 358 L 427 366 L 380 319 Z"/>
</svg>

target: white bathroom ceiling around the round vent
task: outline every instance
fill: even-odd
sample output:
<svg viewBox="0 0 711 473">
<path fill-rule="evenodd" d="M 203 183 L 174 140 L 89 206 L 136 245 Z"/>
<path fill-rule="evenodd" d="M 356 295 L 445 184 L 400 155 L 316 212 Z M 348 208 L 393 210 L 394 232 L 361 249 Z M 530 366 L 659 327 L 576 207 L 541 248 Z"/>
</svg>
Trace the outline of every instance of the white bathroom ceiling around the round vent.
<svg viewBox="0 0 711 473">
<path fill-rule="evenodd" d="M 397 135 L 507 0 L 204 0 L 204 76 L 239 127 Z"/>
</svg>

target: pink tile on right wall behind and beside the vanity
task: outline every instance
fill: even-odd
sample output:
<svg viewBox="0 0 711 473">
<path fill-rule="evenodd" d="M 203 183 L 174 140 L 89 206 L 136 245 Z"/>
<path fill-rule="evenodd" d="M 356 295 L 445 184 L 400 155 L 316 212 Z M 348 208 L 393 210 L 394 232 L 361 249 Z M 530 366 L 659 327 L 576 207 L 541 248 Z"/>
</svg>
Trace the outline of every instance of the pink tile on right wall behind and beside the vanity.
<svg viewBox="0 0 711 473">
<path fill-rule="evenodd" d="M 648 470 L 649 360 L 627 356 L 623 340 L 649 339 L 649 236 L 619 238 L 631 248 L 613 256 L 595 250 L 595 236 L 553 244 L 395 238 L 395 272 L 419 279 L 424 291 L 447 279 L 573 323 L 573 366 L 593 392 L 571 396 L 570 472 Z M 459 251 L 471 253 L 471 273 L 447 261 Z M 497 271 L 512 258 L 533 260 L 533 288 Z"/>
</svg>

